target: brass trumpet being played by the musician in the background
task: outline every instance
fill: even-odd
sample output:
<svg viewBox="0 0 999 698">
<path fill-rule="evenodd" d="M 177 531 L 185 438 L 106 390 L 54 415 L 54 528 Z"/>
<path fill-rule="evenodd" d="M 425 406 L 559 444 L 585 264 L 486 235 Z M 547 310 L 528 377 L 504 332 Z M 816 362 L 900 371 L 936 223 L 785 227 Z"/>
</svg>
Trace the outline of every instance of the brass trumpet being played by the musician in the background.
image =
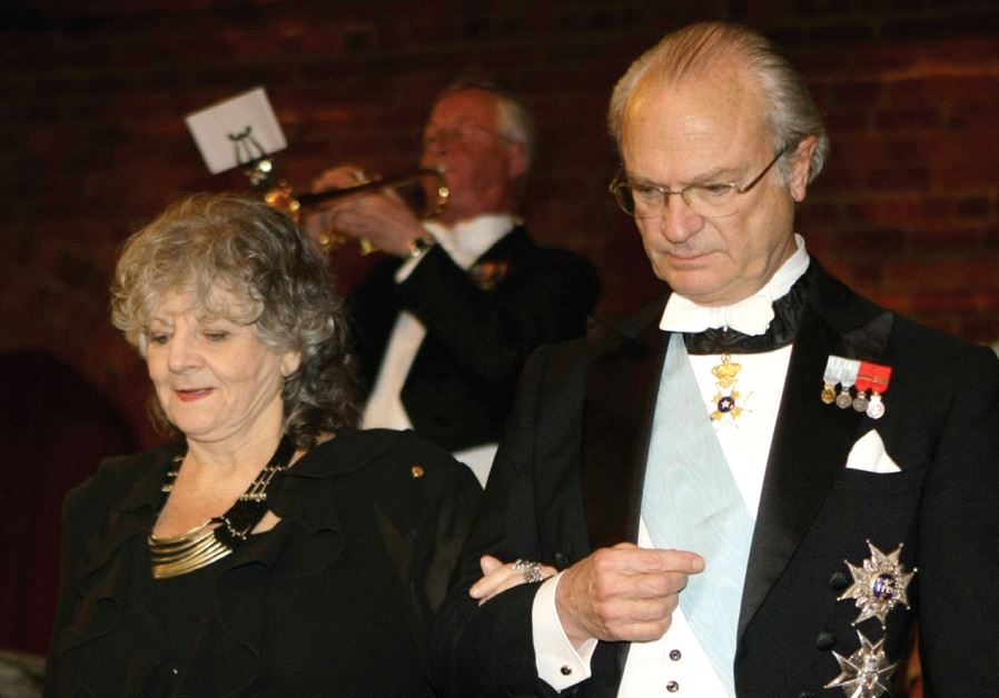
<svg viewBox="0 0 999 698">
<path fill-rule="evenodd" d="M 263 169 L 261 169 L 263 166 Z M 251 186 L 257 190 L 264 190 L 264 202 L 269 207 L 281 211 L 299 222 L 303 209 L 329 203 L 337 199 L 346 199 L 365 193 L 373 193 L 383 189 L 392 189 L 403 201 L 423 218 L 433 218 L 447 206 L 451 189 L 444 180 L 444 169 L 419 168 L 402 174 L 385 178 L 367 178 L 363 172 L 358 173 L 358 181 L 350 187 L 342 189 L 328 189 L 311 193 L 295 195 L 291 186 L 284 180 L 275 181 L 274 163 L 264 158 L 258 160 L 247 176 Z M 424 187 L 433 178 L 433 187 Z M 350 238 L 335 230 L 325 230 L 319 235 L 319 246 L 327 252 L 339 249 Z M 369 255 L 377 248 L 365 238 L 358 240 L 360 252 Z"/>
</svg>

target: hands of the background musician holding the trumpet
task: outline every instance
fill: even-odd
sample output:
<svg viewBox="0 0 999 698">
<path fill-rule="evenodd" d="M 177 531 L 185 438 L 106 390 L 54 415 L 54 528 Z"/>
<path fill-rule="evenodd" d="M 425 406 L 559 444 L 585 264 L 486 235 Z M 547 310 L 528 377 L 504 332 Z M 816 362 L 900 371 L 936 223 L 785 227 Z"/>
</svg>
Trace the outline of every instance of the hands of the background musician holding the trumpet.
<svg viewBox="0 0 999 698">
<path fill-rule="evenodd" d="M 360 168 L 342 164 L 314 179 L 311 190 L 345 189 L 366 180 Z M 416 215 L 390 189 L 337 199 L 309 212 L 304 228 L 316 240 L 330 230 L 352 238 L 365 238 L 383 252 L 396 257 L 408 255 L 413 241 L 426 235 Z"/>
</svg>

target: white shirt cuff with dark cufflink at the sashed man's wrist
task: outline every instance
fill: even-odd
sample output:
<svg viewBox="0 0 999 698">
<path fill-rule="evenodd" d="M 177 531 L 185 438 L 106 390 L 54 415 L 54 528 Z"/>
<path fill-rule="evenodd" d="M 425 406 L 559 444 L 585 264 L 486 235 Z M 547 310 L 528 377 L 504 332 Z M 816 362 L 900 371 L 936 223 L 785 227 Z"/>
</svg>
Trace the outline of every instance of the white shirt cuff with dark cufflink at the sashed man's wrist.
<svg viewBox="0 0 999 698">
<path fill-rule="evenodd" d="M 561 578 L 562 572 L 558 572 L 546 579 L 531 607 L 537 677 L 557 691 L 590 678 L 590 660 L 596 650 L 596 638 L 586 640 L 576 650 L 565 636 L 555 608 L 555 589 Z"/>
</svg>

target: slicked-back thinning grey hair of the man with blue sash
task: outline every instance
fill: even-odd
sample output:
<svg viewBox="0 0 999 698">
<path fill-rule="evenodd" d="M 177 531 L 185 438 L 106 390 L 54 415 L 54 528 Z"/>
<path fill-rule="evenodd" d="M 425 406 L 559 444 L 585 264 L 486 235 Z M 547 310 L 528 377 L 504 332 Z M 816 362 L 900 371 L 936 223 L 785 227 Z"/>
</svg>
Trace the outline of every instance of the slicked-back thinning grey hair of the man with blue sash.
<svg viewBox="0 0 999 698">
<path fill-rule="evenodd" d="M 641 84 L 646 80 L 680 80 L 716 68 L 720 60 L 732 58 L 759 81 L 768 102 L 763 118 L 773 134 L 775 151 L 787 149 L 790 152 L 809 136 L 818 139 L 809 181 L 818 177 L 829 153 L 829 137 L 801 73 L 764 36 L 725 22 L 701 22 L 671 32 L 631 64 L 614 86 L 607 111 L 607 127 L 619 153 L 624 114 Z M 782 159 L 779 167 L 787 181 L 790 171 L 785 160 Z"/>
</svg>

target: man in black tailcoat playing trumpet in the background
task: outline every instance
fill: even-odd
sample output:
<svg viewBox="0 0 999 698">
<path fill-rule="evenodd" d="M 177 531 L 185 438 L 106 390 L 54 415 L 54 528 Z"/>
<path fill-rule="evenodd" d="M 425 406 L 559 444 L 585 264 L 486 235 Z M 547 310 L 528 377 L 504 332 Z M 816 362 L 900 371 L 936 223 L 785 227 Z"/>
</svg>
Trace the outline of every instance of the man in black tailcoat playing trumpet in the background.
<svg viewBox="0 0 999 698">
<path fill-rule="evenodd" d="M 367 389 L 362 426 L 415 429 L 483 483 L 527 356 L 583 335 L 597 297 L 592 265 L 537 247 L 516 215 L 533 150 L 523 106 L 491 84 L 457 82 L 423 129 L 419 164 L 443 172 L 449 189 L 443 211 L 421 220 L 380 191 L 338 200 L 305 223 L 387 255 L 350 298 Z M 342 164 L 313 188 L 364 179 Z"/>
</svg>

